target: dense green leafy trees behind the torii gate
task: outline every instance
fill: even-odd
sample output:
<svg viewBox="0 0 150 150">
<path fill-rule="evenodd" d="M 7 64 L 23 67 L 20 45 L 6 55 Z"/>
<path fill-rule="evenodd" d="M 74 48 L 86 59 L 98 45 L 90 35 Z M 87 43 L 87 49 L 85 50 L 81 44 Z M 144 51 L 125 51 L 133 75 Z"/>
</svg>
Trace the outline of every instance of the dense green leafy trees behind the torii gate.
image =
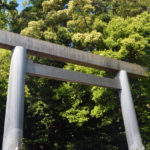
<svg viewBox="0 0 150 150">
<path fill-rule="evenodd" d="M 150 68 L 150 0 L 0 1 L 0 29 Z M 9 76 L 0 50 L 0 144 Z M 83 66 L 29 56 L 34 62 L 114 77 Z M 150 76 L 129 78 L 143 144 L 150 150 Z M 26 77 L 24 150 L 127 150 L 117 91 Z M 0 145 L 1 147 L 1 145 Z"/>
</svg>

